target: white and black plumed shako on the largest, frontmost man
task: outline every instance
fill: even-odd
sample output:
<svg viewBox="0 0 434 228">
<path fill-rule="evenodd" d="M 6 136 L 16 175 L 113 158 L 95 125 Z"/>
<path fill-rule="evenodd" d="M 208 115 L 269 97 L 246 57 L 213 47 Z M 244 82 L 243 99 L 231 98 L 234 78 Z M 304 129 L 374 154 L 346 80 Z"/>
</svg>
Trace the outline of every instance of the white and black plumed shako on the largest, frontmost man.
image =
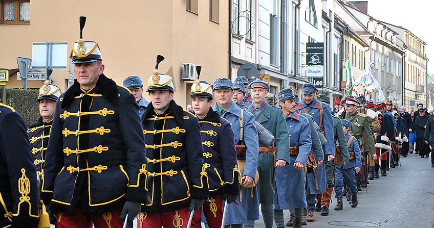
<svg viewBox="0 0 434 228">
<path fill-rule="evenodd" d="M 101 50 L 98 42 L 84 41 L 83 28 L 86 22 L 86 17 L 80 17 L 80 38 L 72 44 L 70 58 L 73 64 L 77 63 L 92 63 L 97 60 L 102 60 Z"/>
</svg>

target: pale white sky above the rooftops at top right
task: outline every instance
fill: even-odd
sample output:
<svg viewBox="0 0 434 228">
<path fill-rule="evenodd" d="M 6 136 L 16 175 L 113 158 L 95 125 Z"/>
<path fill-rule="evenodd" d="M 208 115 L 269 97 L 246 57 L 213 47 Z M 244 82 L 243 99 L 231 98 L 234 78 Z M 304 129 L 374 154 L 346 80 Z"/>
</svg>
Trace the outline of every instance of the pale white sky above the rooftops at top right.
<svg viewBox="0 0 434 228">
<path fill-rule="evenodd" d="M 402 26 L 426 43 L 428 73 L 434 73 L 434 1 L 368 0 L 367 12 L 372 17 Z"/>
</svg>

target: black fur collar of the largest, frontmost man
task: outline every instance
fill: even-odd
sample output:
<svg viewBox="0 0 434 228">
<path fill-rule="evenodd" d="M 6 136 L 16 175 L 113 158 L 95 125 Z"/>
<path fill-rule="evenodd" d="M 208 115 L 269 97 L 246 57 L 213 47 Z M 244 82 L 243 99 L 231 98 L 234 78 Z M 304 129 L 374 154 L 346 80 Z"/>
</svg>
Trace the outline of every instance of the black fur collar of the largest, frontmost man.
<svg viewBox="0 0 434 228">
<path fill-rule="evenodd" d="M 74 84 L 65 92 L 62 101 L 62 109 L 68 107 L 74 96 L 78 96 L 83 91 L 80 89 L 80 84 L 77 80 L 74 80 Z M 95 88 L 89 91 L 90 93 L 102 94 L 105 98 L 110 100 L 110 102 L 117 106 L 118 105 L 118 89 L 115 81 L 105 77 L 104 74 L 99 75 L 99 79 L 96 82 Z"/>
</svg>

